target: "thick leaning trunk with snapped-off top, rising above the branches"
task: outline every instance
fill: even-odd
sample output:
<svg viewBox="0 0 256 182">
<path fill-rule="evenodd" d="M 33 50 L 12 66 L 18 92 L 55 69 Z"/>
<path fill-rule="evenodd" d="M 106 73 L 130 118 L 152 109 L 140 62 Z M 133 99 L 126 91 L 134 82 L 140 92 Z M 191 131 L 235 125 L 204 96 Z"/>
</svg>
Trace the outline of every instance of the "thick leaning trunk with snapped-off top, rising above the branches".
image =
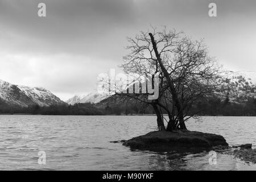
<svg viewBox="0 0 256 182">
<path fill-rule="evenodd" d="M 164 73 L 164 76 L 166 77 L 167 84 L 168 84 L 168 86 L 169 86 L 169 88 L 171 90 L 172 98 L 174 100 L 174 105 L 177 108 L 180 129 L 181 130 L 187 130 L 187 128 L 185 126 L 185 123 L 184 123 L 183 110 L 182 110 L 182 108 L 180 106 L 179 98 L 177 96 L 174 84 L 171 81 L 171 78 L 170 78 L 166 68 L 164 68 L 164 65 L 162 63 L 162 59 L 161 59 L 161 57 L 159 55 L 159 52 L 158 52 L 158 48 L 156 47 L 154 36 L 151 33 L 149 33 L 149 35 L 150 35 L 150 38 L 151 38 L 151 43 L 152 43 L 152 46 L 153 46 L 153 49 L 154 49 L 154 52 L 155 52 L 156 59 L 158 60 L 159 66 L 162 69 L 162 71 Z"/>
</svg>

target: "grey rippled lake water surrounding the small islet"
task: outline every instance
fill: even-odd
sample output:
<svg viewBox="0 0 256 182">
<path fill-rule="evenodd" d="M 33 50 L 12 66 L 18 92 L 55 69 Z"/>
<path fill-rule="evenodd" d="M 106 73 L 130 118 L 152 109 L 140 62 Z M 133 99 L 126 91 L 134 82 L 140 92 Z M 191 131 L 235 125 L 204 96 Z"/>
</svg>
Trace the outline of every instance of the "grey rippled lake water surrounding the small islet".
<svg viewBox="0 0 256 182">
<path fill-rule="evenodd" d="M 221 134 L 230 146 L 253 143 L 256 117 L 202 117 L 187 122 L 192 131 Z M 233 156 L 131 151 L 113 140 L 156 130 L 155 116 L 0 115 L 0 169 L 42 170 L 256 170 Z M 38 164 L 38 152 L 46 164 Z M 41 161 L 41 160 L 40 160 Z"/>
</svg>

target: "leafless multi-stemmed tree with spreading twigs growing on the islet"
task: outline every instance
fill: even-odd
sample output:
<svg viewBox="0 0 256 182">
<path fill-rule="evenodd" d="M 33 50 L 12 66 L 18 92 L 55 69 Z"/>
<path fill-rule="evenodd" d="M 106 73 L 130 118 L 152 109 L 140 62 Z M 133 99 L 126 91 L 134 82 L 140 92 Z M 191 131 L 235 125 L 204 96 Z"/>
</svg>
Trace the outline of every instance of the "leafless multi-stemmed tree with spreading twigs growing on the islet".
<svg viewBox="0 0 256 182">
<path fill-rule="evenodd" d="M 159 130 L 187 130 L 185 121 L 196 117 L 192 107 L 201 99 L 214 92 L 220 84 L 220 67 L 208 55 L 203 41 L 192 41 L 183 32 L 175 30 L 141 32 L 135 38 L 128 38 L 122 68 L 126 73 L 138 75 L 159 74 L 159 97 L 147 100 L 143 94 L 126 94 L 151 105 L 157 115 Z M 168 115 L 167 128 L 164 127 L 164 114 Z"/>
</svg>

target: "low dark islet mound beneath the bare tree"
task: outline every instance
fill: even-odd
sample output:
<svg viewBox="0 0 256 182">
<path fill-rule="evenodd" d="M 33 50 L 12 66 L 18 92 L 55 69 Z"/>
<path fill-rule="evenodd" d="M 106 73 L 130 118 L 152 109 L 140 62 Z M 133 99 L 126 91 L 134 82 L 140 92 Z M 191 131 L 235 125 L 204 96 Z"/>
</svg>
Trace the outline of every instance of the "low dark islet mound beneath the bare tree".
<svg viewBox="0 0 256 182">
<path fill-rule="evenodd" d="M 127 140 L 123 145 L 132 149 L 150 151 L 191 151 L 217 146 L 228 147 L 228 143 L 221 135 L 180 130 L 172 132 L 152 131 L 146 135 Z"/>
</svg>

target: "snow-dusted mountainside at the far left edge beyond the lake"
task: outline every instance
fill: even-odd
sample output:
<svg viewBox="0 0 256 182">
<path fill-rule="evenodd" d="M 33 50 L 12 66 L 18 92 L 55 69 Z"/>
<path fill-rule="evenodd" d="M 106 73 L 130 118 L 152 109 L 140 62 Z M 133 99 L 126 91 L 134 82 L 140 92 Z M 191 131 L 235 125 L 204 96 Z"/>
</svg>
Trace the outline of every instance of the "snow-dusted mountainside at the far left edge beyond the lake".
<svg viewBox="0 0 256 182">
<path fill-rule="evenodd" d="M 0 101 L 7 105 L 27 107 L 29 105 L 49 106 L 64 104 L 60 98 L 44 88 L 18 86 L 0 80 Z"/>
</svg>

